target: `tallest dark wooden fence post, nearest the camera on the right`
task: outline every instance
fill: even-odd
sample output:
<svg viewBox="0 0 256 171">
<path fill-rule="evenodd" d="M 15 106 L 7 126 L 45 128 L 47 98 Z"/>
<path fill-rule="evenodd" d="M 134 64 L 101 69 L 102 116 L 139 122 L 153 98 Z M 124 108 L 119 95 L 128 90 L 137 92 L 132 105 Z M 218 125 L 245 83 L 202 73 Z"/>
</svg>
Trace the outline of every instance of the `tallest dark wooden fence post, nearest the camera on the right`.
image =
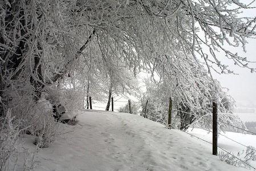
<svg viewBox="0 0 256 171">
<path fill-rule="evenodd" d="M 213 102 L 213 155 L 218 155 L 218 104 Z"/>
</svg>

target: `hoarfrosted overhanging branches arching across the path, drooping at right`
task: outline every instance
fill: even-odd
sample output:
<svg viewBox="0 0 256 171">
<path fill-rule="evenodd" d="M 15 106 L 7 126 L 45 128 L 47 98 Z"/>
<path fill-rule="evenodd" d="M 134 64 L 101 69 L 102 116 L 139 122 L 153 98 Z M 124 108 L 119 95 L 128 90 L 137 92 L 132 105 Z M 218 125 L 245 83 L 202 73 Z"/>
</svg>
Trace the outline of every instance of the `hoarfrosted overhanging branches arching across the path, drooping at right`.
<svg viewBox="0 0 256 171">
<path fill-rule="evenodd" d="M 83 107 L 84 94 L 130 91 L 131 73 L 141 70 L 151 72 L 155 82 L 160 77 L 183 113 L 186 107 L 205 113 L 212 96 L 221 101 L 226 95 L 211 91 L 220 85 L 208 82 L 198 56 L 208 72 L 234 73 L 217 51 L 256 71 L 249 59 L 226 48 L 245 50 L 247 38 L 255 38 L 256 19 L 238 17 L 251 5 L 239 1 L 1 2 L 1 117 L 15 107 L 19 119 L 30 118 L 27 106 L 35 105 L 42 92 L 51 93 L 51 102 L 68 104 L 68 99 Z M 17 101 L 24 102 L 15 106 Z"/>
</svg>

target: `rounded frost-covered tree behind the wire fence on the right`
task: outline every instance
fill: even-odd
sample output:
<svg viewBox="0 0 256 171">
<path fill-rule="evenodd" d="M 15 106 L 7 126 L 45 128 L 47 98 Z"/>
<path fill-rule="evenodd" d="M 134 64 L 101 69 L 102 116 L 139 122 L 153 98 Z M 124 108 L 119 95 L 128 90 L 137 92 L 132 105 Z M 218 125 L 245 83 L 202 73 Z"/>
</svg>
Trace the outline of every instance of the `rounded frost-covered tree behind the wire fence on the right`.
<svg viewBox="0 0 256 171">
<path fill-rule="evenodd" d="M 217 80 L 212 80 L 204 67 L 190 56 L 180 56 L 186 63 L 177 64 L 175 58 L 166 56 L 158 72 L 158 82 L 147 80 L 147 92 L 144 98 L 149 100 L 147 117 L 166 124 L 168 118 L 169 97 L 173 99 L 173 127 L 182 130 L 194 123 L 212 128 L 212 101 L 219 104 L 219 127 L 226 124 L 241 127 L 241 121 L 232 114 L 234 100 L 227 95 Z M 172 63 L 168 62 L 172 61 Z M 159 71 L 159 70 L 158 70 Z M 194 77 L 190 77 L 194 75 Z"/>
</svg>

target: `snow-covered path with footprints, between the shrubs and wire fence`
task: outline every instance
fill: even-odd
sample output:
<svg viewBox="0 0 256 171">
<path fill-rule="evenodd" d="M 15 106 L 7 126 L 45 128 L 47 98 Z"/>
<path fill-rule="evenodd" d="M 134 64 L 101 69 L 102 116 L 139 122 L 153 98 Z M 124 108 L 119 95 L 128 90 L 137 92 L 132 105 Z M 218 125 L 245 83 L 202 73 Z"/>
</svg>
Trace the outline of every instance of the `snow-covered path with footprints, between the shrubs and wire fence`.
<svg viewBox="0 0 256 171">
<path fill-rule="evenodd" d="M 61 139 L 39 150 L 34 170 L 247 170 L 213 156 L 210 144 L 138 115 L 84 110 L 78 124 L 65 127 Z M 22 139 L 35 148 L 31 137 Z"/>
</svg>

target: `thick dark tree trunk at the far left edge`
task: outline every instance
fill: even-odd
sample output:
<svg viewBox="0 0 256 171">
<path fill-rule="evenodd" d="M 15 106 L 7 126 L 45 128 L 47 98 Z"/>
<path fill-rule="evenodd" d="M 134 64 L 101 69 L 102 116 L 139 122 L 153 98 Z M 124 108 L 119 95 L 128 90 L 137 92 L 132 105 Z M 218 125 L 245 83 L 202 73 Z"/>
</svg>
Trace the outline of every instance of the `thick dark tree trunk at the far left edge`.
<svg viewBox="0 0 256 171">
<path fill-rule="evenodd" d="M 11 100 L 9 97 L 5 95 L 6 89 L 8 89 L 11 85 L 10 80 L 15 80 L 18 78 L 19 74 L 22 73 L 23 67 L 22 63 L 25 60 L 22 54 L 25 51 L 25 18 L 24 18 L 24 11 L 19 6 L 19 1 L 11 2 L 11 6 L 3 5 L 3 13 L 5 13 L 5 27 L 1 28 L 1 32 L 5 32 L 7 35 L 6 37 L 17 38 L 17 42 L 9 42 L 6 40 L 5 36 L 0 34 L 0 116 L 4 115 L 5 108 L 7 107 L 9 101 Z M 20 23 L 19 26 L 20 30 L 18 30 L 19 35 L 14 35 L 17 32 L 17 23 Z M 2 25 L 2 23 L 1 23 Z M 2 25 L 3 26 L 3 25 Z M 17 46 L 18 45 L 18 46 Z M 10 48 L 14 48 L 10 50 Z"/>
</svg>

